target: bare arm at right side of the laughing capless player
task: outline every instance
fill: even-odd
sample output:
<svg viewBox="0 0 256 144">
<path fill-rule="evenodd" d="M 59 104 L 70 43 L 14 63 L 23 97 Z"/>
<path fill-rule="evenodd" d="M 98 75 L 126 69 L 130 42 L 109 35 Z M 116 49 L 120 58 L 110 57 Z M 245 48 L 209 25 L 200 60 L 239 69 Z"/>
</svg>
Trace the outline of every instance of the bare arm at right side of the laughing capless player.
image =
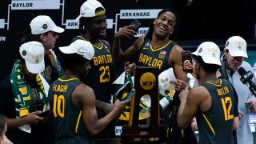
<svg viewBox="0 0 256 144">
<path fill-rule="evenodd" d="M 169 64 L 174 68 L 177 79 L 187 82 L 187 75 L 182 71 L 182 47 L 175 45 L 170 50 Z"/>
</svg>

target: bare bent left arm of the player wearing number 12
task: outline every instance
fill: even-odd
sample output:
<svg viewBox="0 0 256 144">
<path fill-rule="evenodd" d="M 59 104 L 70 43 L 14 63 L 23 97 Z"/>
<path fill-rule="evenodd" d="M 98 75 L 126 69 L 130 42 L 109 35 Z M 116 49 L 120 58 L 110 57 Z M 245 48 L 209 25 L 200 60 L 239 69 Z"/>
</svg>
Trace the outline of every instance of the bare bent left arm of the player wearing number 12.
<svg viewBox="0 0 256 144">
<path fill-rule="evenodd" d="M 178 126 L 181 129 L 190 125 L 198 109 L 206 111 L 211 106 L 209 92 L 202 86 L 197 86 L 188 92 L 188 87 L 179 95 L 181 104 L 178 109 Z M 210 99 L 211 100 L 211 99 Z M 207 103 L 207 104 L 206 104 Z"/>
</svg>

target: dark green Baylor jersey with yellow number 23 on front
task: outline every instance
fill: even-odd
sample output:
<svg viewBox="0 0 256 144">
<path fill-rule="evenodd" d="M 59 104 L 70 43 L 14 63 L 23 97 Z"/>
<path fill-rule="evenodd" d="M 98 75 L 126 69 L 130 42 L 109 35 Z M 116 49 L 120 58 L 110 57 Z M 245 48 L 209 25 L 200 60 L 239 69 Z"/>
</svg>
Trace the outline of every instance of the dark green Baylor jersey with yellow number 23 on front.
<svg viewBox="0 0 256 144">
<path fill-rule="evenodd" d="M 86 35 L 78 35 L 74 38 L 74 40 L 76 39 L 87 41 Z M 99 40 L 99 42 L 101 43 L 100 46 L 92 44 L 95 50 L 94 58 L 90 61 L 91 69 L 84 83 L 94 90 L 98 101 L 110 103 L 111 86 L 114 79 L 112 55 L 110 53 L 110 47 L 103 40 Z M 99 118 L 102 117 L 99 116 Z"/>
</svg>

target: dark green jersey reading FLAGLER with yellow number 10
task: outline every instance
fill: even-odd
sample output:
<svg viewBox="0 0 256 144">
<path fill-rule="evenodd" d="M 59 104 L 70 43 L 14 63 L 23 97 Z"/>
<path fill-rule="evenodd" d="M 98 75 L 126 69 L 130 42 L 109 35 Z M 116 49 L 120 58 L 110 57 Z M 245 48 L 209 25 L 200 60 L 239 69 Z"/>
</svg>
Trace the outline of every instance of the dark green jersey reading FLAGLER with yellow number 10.
<svg viewBox="0 0 256 144">
<path fill-rule="evenodd" d="M 82 119 L 82 110 L 74 106 L 71 94 L 82 82 L 78 78 L 61 79 L 50 85 L 48 98 L 53 113 L 56 143 L 93 143 L 93 138 L 86 134 Z"/>
</svg>

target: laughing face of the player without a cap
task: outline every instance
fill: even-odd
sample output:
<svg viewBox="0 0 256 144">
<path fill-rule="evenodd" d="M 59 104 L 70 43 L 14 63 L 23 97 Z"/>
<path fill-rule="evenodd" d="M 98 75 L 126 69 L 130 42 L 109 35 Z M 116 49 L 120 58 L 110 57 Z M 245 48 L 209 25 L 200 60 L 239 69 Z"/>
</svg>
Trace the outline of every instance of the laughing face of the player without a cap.
<svg viewBox="0 0 256 144">
<path fill-rule="evenodd" d="M 174 31 L 175 21 L 176 17 L 170 11 L 159 15 L 159 17 L 154 20 L 154 34 L 157 38 L 168 38 L 169 34 L 172 34 Z"/>
</svg>

